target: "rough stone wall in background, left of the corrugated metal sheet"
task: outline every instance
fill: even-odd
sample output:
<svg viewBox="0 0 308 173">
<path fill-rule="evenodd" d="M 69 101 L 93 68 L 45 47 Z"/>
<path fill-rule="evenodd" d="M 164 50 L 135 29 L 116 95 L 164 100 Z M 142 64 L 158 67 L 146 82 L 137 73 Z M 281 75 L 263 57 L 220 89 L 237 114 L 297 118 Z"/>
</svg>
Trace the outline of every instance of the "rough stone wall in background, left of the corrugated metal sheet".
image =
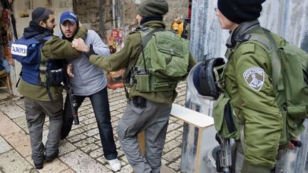
<svg viewBox="0 0 308 173">
<path fill-rule="evenodd" d="M 115 0 L 116 19 L 120 21 L 120 28 L 125 29 L 125 33 L 138 26 L 135 16 L 136 7 L 143 0 Z M 177 17 L 186 18 L 188 16 L 188 0 L 167 0 L 169 12 L 165 15 L 164 22 L 169 29 L 173 19 Z M 91 28 L 103 38 L 108 38 L 113 29 L 112 0 L 73 0 L 73 11 L 76 12 L 83 26 Z"/>
</svg>

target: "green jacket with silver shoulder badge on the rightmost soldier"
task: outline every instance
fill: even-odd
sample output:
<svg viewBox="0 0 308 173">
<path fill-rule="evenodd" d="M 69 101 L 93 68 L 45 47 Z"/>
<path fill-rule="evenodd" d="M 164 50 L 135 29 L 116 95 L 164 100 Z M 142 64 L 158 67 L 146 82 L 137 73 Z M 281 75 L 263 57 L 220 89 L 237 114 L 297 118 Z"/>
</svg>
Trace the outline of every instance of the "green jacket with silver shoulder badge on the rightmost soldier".
<svg viewBox="0 0 308 173">
<path fill-rule="evenodd" d="M 241 23 L 231 33 L 226 55 L 230 51 L 233 53 L 227 57 L 225 89 L 230 95 L 237 123 L 244 126 L 242 172 L 270 172 L 277 159 L 283 120 L 275 101 L 268 49 L 255 41 L 241 44 L 235 41 L 235 38 L 242 38 L 248 33 L 258 33 L 266 38 L 257 20 Z M 278 45 L 285 44 L 279 36 L 275 35 L 274 38 Z"/>
</svg>

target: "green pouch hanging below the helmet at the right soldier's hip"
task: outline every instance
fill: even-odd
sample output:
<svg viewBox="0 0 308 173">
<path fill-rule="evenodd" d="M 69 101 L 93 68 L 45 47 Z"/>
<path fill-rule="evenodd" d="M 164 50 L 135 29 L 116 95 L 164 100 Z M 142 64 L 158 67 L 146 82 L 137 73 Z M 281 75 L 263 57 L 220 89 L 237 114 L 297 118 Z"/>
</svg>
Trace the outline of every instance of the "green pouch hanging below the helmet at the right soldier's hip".
<svg viewBox="0 0 308 173">
<path fill-rule="evenodd" d="M 215 129 L 222 137 L 235 139 L 240 137 L 237 122 L 234 120 L 230 98 L 225 97 L 224 94 L 220 94 L 214 105 L 214 122 Z"/>
</svg>

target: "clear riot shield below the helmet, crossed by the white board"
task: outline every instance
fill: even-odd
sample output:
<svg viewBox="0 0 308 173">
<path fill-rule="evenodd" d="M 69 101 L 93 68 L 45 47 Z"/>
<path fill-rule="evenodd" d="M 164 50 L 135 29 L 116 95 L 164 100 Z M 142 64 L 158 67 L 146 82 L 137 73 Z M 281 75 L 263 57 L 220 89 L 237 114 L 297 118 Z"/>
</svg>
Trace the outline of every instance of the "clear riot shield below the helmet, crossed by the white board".
<svg viewBox="0 0 308 173">
<path fill-rule="evenodd" d="M 196 67 L 197 65 L 195 65 Z M 193 73 L 195 67 L 190 70 L 187 78 L 186 103 L 185 107 L 212 116 L 213 104 L 215 100 L 211 97 L 200 95 L 193 85 Z M 202 133 L 202 140 L 200 140 Z M 215 159 L 212 157 L 212 150 L 218 146 L 215 140 L 216 130 L 212 126 L 207 130 L 200 131 L 197 127 L 184 123 L 183 127 L 183 150 L 180 164 L 181 172 L 207 172 L 215 173 Z M 196 153 L 197 147 L 201 147 L 201 152 Z M 197 165 L 195 160 L 200 160 Z"/>
</svg>

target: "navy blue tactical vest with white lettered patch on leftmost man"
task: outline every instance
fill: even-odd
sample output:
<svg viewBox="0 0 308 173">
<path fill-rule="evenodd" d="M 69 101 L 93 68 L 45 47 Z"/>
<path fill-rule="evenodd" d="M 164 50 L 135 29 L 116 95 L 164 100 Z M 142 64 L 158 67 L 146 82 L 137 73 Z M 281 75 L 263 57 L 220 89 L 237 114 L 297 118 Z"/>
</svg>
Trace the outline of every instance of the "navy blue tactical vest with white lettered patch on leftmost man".
<svg viewBox="0 0 308 173">
<path fill-rule="evenodd" d="M 43 34 L 26 39 L 21 37 L 11 45 L 12 58 L 22 64 L 21 78 L 32 85 L 58 86 L 63 81 L 63 61 L 43 60 L 41 48 L 52 36 Z M 48 93 L 51 97 L 50 93 Z M 52 98 L 51 98 L 52 100 Z"/>
</svg>

